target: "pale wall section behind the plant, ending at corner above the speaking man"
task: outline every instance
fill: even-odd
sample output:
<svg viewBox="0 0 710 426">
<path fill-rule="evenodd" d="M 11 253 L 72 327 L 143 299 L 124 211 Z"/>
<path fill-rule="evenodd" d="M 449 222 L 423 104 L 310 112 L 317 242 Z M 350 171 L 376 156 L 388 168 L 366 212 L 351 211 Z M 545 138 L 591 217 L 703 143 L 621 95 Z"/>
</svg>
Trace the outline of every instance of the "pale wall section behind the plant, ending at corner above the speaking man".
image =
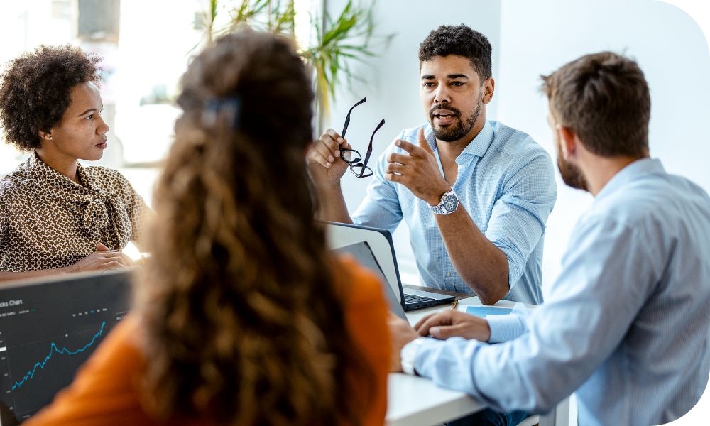
<svg viewBox="0 0 710 426">
<path fill-rule="evenodd" d="M 328 0 L 327 9 L 334 14 L 342 9 L 343 4 L 341 0 Z M 493 76 L 496 76 L 501 4 L 490 0 L 455 0 L 447 1 L 444 6 L 422 0 L 381 0 L 376 1 L 375 18 L 379 34 L 394 33 L 395 37 L 388 48 L 378 50 L 382 52 L 378 58 L 368 60 L 368 65 L 354 67 L 356 75 L 367 83 L 354 82 L 352 92 L 344 89 L 338 94 L 338 102 L 332 106 L 328 124 L 342 131 L 348 109 L 359 99 L 367 97 L 367 102 L 353 111 L 346 136 L 354 148 L 363 150 L 364 155 L 372 131 L 384 118 L 386 124 L 378 131 L 373 143 L 373 158 L 377 158 L 402 129 L 418 126 L 426 120 L 419 100 L 417 54 L 419 44 L 437 26 L 465 23 L 484 33 L 493 45 Z M 488 105 L 488 114 L 495 109 L 494 101 Z M 343 190 L 351 212 L 363 199 L 370 179 L 357 179 L 347 172 Z M 395 232 L 395 249 L 403 280 L 415 283 L 416 266 L 405 224 Z"/>
</svg>

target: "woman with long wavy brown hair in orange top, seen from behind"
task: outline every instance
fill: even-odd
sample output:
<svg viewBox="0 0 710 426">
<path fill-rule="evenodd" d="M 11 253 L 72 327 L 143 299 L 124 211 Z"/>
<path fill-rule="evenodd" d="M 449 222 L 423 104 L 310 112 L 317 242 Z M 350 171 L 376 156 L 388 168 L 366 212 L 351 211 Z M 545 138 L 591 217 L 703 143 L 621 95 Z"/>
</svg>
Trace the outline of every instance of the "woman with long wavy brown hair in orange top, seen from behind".
<svg viewBox="0 0 710 426">
<path fill-rule="evenodd" d="M 314 222 L 313 94 L 273 35 L 191 63 L 136 307 L 28 424 L 381 425 L 381 286 Z"/>
</svg>

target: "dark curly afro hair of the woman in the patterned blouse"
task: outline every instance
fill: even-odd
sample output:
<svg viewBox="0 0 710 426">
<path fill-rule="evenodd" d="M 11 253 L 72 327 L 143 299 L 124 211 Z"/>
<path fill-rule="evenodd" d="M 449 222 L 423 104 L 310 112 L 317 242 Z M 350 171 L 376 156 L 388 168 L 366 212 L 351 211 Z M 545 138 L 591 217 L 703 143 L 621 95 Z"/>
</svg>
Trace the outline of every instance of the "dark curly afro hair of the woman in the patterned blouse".
<svg viewBox="0 0 710 426">
<path fill-rule="evenodd" d="M 21 151 L 40 147 L 39 131 L 62 121 L 77 84 L 99 84 L 101 58 L 72 45 L 41 45 L 6 64 L 0 74 L 0 124 Z"/>
</svg>

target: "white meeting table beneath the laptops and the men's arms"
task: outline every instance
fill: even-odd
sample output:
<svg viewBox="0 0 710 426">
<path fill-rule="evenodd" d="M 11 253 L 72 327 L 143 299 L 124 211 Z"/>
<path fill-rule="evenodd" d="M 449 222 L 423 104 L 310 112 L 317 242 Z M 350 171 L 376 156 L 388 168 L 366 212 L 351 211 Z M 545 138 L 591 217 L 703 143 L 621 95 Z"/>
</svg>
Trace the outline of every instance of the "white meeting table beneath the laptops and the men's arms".
<svg viewBox="0 0 710 426">
<path fill-rule="evenodd" d="M 465 311 L 466 305 L 481 305 L 478 297 L 459 301 L 459 310 Z M 496 306 L 512 307 L 513 302 L 501 300 Z M 451 309 L 450 305 L 430 307 L 410 311 L 407 319 L 414 325 L 425 315 Z M 439 388 L 428 378 L 409 376 L 403 373 L 390 373 L 387 382 L 388 426 L 430 426 L 454 420 L 464 415 L 483 410 L 486 405 L 467 393 Z M 569 401 L 564 400 L 548 415 L 539 417 L 540 426 L 567 425 Z"/>
</svg>

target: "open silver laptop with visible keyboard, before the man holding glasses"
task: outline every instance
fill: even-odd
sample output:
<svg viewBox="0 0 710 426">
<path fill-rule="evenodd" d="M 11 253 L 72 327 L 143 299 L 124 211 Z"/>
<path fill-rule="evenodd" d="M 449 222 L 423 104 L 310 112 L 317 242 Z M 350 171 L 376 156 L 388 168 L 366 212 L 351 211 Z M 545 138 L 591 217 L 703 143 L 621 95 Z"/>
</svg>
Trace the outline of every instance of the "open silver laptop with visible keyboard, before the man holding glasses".
<svg viewBox="0 0 710 426">
<path fill-rule="evenodd" d="M 397 267 L 395 248 L 392 243 L 392 235 L 386 229 L 339 222 L 324 223 L 326 225 L 328 244 L 331 249 L 339 249 L 342 246 L 361 241 L 368 243 L 368 247 L 381 267 L 381 271 L 387 278 L 387 283 L 389 283 L 393 293 L 398 297 L 398 301 L 404 310 L 415 310 L 454 302 L 454 296 L 403 288 L 399 268 Z"/>
</svg>

